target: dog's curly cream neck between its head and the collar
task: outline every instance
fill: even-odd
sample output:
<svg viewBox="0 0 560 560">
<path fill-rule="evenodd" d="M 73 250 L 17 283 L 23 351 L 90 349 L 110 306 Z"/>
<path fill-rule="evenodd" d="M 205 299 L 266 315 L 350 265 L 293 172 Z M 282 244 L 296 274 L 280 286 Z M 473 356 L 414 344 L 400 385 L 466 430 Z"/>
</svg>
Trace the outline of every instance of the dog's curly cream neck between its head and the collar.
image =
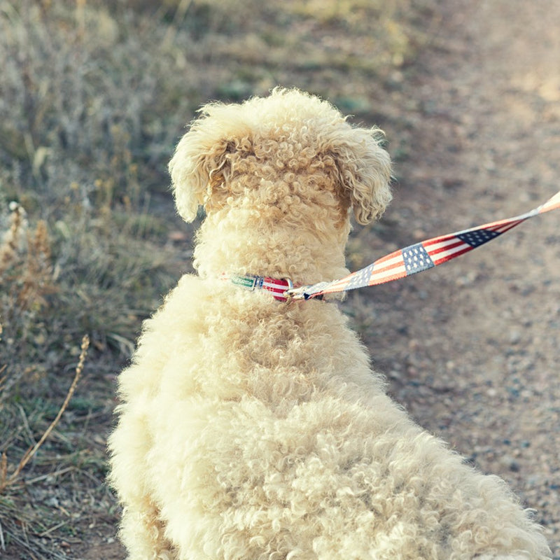
<svg viewBox="0 0 560 560">
<path fill-rule="evenodd" d="M 290 278 L 295 284 L 348 274 L 344 245 L 349 225 L 325 227 L 269 221 L 255 211 L 211 214 L 197 233 L 195 268 L 202 277 L 256 274 Z"/>
</svg>

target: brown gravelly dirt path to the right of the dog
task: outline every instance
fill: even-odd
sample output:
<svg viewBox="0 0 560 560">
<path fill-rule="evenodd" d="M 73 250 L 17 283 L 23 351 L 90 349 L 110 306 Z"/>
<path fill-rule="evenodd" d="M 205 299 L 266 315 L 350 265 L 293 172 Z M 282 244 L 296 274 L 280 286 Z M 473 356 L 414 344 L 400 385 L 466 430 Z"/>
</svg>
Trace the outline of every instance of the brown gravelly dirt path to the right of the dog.
<svg viewBox="0 0 560 560">
<path fill-rule="evenodd" d="M 560 188 L 560 3 L 452 0 L 415 83 L 409 160 L 377 251 L 506 218 Z M 417 102 L 417 103 L 416 103 Z M 560 215 L 353 296 L 395 398 L 509 482 L 560 558 Z M 371 254 L 371 249 L 370 249 Z M 383 254 L 383 253 L 381 253 Z M 377 253 L 374 256 L 381 256 Z"/>
</svg>

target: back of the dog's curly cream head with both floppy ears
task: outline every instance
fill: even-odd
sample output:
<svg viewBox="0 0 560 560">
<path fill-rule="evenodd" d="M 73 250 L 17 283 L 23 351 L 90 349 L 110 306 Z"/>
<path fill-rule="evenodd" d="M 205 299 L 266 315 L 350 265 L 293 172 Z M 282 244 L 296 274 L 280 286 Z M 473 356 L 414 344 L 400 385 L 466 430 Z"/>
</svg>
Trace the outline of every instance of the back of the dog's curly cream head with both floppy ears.
<svg viewBox="0 0 560 560">
<path fill-rule="evenodd" d="M 327 188 L 344 219 L 351 207 L 358 223 L 368 223 L 391 200 L 391 162 L 382 137 L 375 127 L 351 126 L 328 102 L 298 90 L 276 88 L 242 104 L 208 104 L 169 164 L 177 209 L 193 221 L 200 206 L 211 214 L 248 188 L 274 183 L 274 190 L 299 181 L 298 195 Z M 317 174 L 328 181 L 311 179 Z M 306 175 L 309 184 L 302 188 Z M 293 188 L 285 190 L 293 195 Z M 267 202 L 280 204 L 278 195 Z"/>
</svg>

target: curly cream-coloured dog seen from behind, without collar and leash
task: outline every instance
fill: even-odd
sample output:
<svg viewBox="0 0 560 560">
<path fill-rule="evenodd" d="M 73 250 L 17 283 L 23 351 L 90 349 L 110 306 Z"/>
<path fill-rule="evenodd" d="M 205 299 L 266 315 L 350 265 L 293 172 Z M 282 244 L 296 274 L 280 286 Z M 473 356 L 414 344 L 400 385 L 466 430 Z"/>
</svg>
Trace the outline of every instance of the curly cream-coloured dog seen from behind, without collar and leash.
<svg viewBox="0 0 560 560">
<path fill-rule="evenodd" d="M 277 89 L 210 104 L 170 164 L 195 267 L 120 375 L 111 483 L 131 560 L 545 559 L 530 515 L 384 391 L 335 302 L 277 302 L 223 272 L 346 273 L 349 209 L 388 204 L 379 130 Z"/>
</svg>

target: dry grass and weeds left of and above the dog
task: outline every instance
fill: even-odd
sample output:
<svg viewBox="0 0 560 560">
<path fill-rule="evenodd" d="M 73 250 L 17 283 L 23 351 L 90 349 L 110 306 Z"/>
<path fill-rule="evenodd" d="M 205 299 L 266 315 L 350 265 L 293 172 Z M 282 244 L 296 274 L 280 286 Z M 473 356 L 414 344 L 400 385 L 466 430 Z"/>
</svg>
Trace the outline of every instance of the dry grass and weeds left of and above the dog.
<svg viewBox="0 0 560 560">
<path fill-rule="evenodd" d="M 1 551 L 115 522 L 114 377 L 190 267 L 166 168 L 195 109 L 297 85 L 379 121 L 431 4 L 0 0 Z"/>
</svg>

